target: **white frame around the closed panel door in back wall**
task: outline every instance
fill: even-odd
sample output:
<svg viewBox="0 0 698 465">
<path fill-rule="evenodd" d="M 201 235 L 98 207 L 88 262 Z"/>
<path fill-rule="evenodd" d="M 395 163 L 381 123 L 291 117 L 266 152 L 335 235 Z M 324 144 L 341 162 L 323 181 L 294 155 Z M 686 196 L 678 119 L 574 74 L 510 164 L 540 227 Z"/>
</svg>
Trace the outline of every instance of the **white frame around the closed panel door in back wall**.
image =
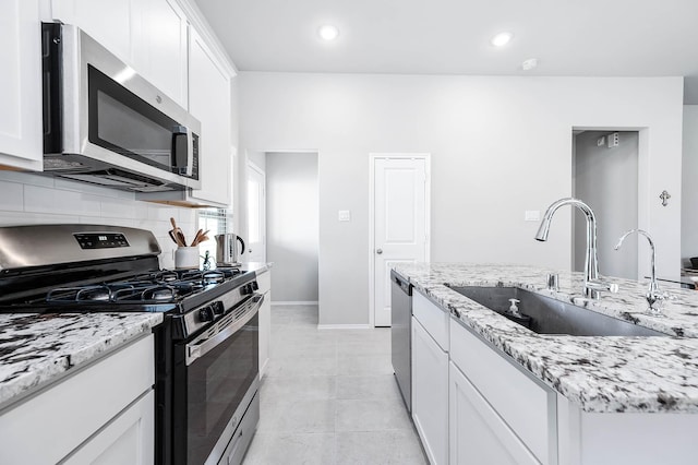
<svg viewBox="0 0 698 465">
<path fill-rule="evenodd" d="M 431 192 L 432 192 L 432 169 L 431 154 L 429 153 L 370 153 L 369 154 L 369 327 L 375 327 L 375 160 L 378 158 L 387 159 L 423 159 L 424 176 L 426 182 L 424 184 L 424 219 L 426 222 L 426 245 L 424 250 L 424 260 L 431 261 Z"/>
</svg>

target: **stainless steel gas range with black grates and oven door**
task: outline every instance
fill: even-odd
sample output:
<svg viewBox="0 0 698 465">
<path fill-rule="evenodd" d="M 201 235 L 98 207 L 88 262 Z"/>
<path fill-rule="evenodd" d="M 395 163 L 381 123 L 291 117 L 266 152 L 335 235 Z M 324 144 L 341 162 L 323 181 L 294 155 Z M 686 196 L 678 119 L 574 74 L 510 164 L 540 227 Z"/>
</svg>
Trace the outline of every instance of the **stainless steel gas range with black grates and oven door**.
<svg viewBox="0 0 698 465">
<path fill-rule="evenodd" d="M 254 272 L 159 270 L 151 231 L 0 228 L 0 312 L 163 312 L 157 464 L 238 464 L 260 416 Z"/>
</svg>

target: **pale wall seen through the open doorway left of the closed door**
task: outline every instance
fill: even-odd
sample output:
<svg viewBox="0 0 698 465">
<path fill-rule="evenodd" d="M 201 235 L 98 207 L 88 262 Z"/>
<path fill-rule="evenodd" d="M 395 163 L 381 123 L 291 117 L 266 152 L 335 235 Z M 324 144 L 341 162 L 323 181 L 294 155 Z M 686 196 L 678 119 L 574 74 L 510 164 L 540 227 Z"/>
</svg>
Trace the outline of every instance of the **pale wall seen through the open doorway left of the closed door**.
<svg viewBox="0 0 698 465">
<path fill-rule="evenodd" d="M 317 154 L 266 155 L 267 261 L 275 301 L 317 301 Z"/>
</svg>

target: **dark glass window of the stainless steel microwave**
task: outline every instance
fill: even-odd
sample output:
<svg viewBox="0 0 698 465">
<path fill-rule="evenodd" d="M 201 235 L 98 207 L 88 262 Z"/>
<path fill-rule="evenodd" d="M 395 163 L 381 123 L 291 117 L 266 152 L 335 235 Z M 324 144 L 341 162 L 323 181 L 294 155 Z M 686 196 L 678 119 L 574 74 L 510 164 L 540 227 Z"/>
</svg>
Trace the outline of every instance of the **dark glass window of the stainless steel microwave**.
<svg viewBox="0 0 698 465">
<path fill-rule="evenodd" d="M 88 65 L 89 142 L 158 168 L 172 170 L 177 122 Z"/>
</svg>

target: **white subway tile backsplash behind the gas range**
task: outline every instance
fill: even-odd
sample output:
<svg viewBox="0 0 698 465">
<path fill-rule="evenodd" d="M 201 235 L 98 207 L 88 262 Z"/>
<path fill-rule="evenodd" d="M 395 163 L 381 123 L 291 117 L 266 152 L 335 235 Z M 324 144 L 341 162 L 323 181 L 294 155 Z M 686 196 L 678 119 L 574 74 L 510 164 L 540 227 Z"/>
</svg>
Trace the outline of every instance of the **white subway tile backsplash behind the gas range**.
<svg viewBox="0 0 698 465">
<path fill-rule="evenodd" d="M 163 249 L 160 266 L 173 267 L 170 217 L 193 237 L 195 210 L 141 202 L 132 192 L 61 178 L 0 171 L 0 226 L 84 223 L 149 229 Z"/>
</svg>

